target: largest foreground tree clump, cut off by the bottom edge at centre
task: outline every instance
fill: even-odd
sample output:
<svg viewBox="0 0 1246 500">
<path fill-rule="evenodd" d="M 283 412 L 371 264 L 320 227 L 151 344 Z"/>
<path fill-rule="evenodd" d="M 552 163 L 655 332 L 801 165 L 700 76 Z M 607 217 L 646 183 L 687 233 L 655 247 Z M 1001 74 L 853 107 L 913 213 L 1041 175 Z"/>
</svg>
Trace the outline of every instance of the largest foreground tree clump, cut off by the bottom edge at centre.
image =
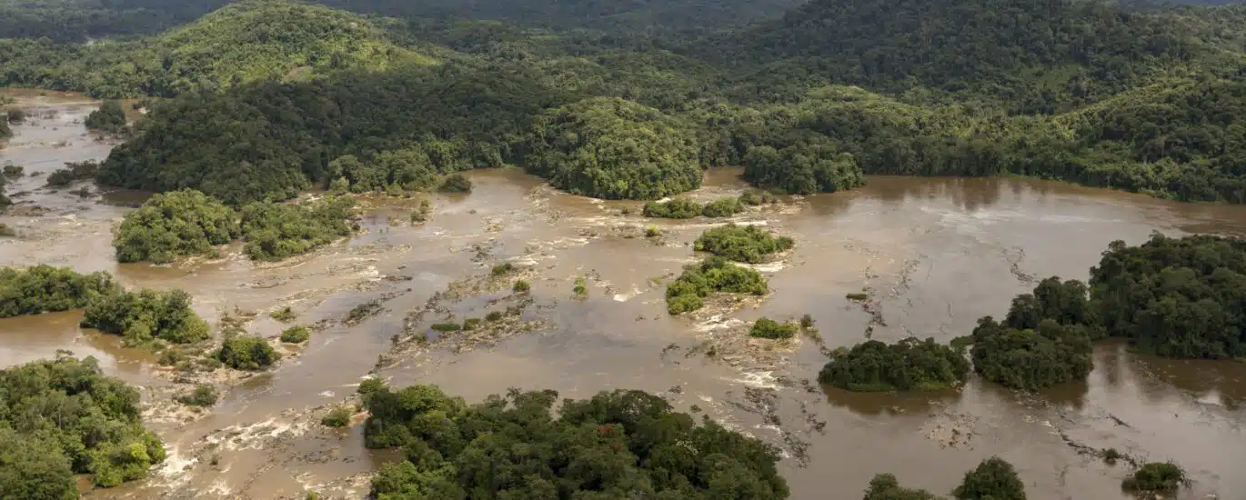
<svg viewBox="0 0 1246 500">
<path fill-rule="evenodd" d="M 381 389 L 364 399 L 369 448 L 402 446 L 378 499 L 779 500 L 778 450 L 713 421 L 697 425 L 659 397 L 616 390 L 557 403 L 511 390 L 467 405 L 440 389 Z"/>
</svg>

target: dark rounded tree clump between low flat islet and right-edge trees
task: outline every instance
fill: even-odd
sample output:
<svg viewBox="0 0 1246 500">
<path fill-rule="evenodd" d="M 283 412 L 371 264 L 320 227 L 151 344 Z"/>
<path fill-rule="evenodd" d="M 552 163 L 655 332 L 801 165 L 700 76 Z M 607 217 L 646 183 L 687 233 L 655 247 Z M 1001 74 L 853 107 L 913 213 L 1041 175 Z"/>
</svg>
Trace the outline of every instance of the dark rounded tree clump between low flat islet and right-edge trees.
<svg viewBox="0 0 1246 500">
<path fill-rule="evenodd" d="M 1034 329 L 1014 329 L 991 317 L 973 329 L 973 369 L 987 380 L 1013 389 L 1038 390 L 1084 380 L 1094 360 L 1082 325 L 1042 320 Z"/>
</svg>

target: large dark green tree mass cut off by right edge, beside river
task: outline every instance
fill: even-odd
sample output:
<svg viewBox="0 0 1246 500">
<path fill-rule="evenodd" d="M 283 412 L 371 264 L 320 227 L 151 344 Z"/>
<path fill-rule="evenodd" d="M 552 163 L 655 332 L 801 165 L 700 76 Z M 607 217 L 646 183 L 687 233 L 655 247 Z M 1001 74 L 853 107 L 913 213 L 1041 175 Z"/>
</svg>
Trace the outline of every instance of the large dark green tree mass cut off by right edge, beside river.
<svg viewBox="0 0 1246 500">
<path fill-rule="evenodd" d="M 1143 352 L 1181 358 L 1246 357 L 1246 242 L 1154 234 L 1113 242 L 1090 269 L 1108 334 Z"/>
</svg>

